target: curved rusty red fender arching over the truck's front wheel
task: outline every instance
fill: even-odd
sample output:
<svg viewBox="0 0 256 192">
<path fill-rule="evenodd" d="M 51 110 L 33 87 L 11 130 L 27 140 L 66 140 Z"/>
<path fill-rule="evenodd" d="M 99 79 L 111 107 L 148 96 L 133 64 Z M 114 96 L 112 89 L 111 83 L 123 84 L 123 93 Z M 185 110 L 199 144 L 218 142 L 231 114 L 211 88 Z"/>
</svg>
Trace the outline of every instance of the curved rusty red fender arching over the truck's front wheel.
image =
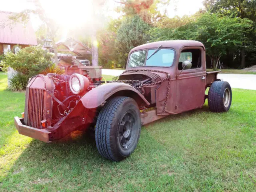
<svg viewBox="0 0 256 192">
<path fill-rule="evenodd" d="M 122 91 L 129 91 L 129 95 L 122 95 L 122 96 L 130 96 L 134 98 L 134 96 L 137 98 L 139 96 L 142 104 L 139 104 L 139 106 L 147 106 L 150 105 L 150 103 L 146 100 L 146 98 L 138 92 L 134 87 L 124 84 L 124 83 L 107 83 L 100 85 L 92 90 L 90 90 L 88 93 L 86 93 L 80 101 L 82 101 L 82 104 L 85 108 L 92 109 L 97 108 L 100 106 L 104 101 L 106 101 L 108 98 L 110 98 L 112 95 L 120 93 Z M 127 94 L 127 92 L 126 92 Z M 118 94 L 120 96 L 120 94 Z M 136 101 L 138 103 L 138 101 Z"/>
</svg>

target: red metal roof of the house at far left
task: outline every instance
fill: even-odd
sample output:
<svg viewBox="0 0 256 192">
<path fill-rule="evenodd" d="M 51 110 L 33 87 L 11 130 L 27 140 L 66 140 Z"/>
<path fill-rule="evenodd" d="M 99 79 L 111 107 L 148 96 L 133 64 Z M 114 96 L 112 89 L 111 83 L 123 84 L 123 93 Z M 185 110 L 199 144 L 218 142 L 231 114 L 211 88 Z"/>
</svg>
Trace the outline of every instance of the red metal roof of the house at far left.
<svg viewBox="0 0 256 192">
<path fill-rule="evenodd" d="M 37 45 L 36 34 L 30 21 L 26 25 L 23 23 L 11 24 L 9 16 L 12 12 L 0 11 L 0 43 Z"/>
</svg>

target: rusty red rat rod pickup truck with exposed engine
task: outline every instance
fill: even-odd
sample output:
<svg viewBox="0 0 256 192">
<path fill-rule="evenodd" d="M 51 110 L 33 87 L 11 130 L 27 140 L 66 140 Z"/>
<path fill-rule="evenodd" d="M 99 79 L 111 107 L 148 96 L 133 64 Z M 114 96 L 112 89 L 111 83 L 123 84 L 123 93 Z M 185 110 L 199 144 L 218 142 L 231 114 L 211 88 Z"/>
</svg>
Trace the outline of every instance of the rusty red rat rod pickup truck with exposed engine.
<svg viewBox="0 0 256 192">
<path fill-rule="evenodd" d="M 102 80 L 99 66 L 33 76 L 26 87 L 23 117 L 14 118 L 16 128 L 44 142 L 93 128 L 98 152 L 120 161 L 134 152 L 142 125 L 201 108 L 206 98 L 211 111 L 228 111 L 231 88 L 217 79 L 218 72 L 206 72 L 200 42 L 144 44 L 130 51 L 126 70 L 112 81 Z"/>
</svg>

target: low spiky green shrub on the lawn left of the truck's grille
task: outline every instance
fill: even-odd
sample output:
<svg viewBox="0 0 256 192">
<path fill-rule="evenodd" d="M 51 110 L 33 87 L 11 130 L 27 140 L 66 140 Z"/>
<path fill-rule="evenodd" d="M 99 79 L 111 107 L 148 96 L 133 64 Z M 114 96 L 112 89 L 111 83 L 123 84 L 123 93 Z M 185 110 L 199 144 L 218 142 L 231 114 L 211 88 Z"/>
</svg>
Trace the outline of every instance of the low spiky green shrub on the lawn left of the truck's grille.
<svg viewBox="0 0 256 192">
<path fill-rule="evenodd" d="M 12 78 L 10 78 L 10 90 L 12 91 L 22 91 L 26 89 L 28 83 L 28 76 L 16 73 Z"/>
</svg>

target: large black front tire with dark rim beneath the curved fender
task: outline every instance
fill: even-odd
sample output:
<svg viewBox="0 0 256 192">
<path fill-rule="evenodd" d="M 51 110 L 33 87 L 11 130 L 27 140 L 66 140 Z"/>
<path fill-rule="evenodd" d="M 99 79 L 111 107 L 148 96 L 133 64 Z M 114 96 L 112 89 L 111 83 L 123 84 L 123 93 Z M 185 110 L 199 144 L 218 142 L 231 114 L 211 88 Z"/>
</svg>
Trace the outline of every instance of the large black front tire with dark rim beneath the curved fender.
<svg viewBox="0 0 256 192">
<path fill-rule="evenodd" d="M 99 153 L 121 161 L 134 152 L 140 138 L 140 110 L 134 99 L 115 97 L 100 110 L 95 129 Z"/>
</svg>

